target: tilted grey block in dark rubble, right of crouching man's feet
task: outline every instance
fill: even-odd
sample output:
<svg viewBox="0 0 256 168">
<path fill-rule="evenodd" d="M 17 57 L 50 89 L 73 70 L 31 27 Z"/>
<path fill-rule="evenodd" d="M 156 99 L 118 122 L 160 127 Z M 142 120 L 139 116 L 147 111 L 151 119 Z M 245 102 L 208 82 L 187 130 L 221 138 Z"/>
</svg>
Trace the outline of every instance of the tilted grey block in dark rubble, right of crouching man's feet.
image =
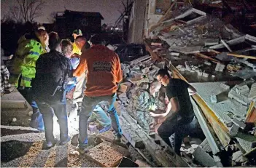
<svg viewBox="0 0 256 168">
<path fill-rule="evenodd" d="M 195 149 L 195 151 L 192 153 L 194 156 L 194 159 L 198 161 L 200 164 L 202 164 L 204 167 L 214 167 L 216 166 L 216 163 L 214 159 L 209 156 L 206 151 L 203 151 L 203 149 L 198 146 L 198 148 Z"/>
</svg>

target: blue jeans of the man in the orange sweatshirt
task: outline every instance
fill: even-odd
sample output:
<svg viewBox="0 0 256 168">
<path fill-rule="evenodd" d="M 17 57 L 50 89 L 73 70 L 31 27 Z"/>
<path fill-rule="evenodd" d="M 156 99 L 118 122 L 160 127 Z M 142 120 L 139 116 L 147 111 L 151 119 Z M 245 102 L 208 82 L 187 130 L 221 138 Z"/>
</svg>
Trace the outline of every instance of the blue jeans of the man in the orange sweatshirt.
<svg viewBox="0 0 256 168">
<path fill-rule="evenodd" d="M 117 99 L 117 93 L 113 95 L 99 96 L 99 97 L 85 97 L 82 100 L 82 107 L 79 113 L 79 145 L 87 144 L 88 142 L 88 119 L 92 114 L 96 105 L 101 101 L 109 102 L 108 113 L 112 121 L 112 127 L 115 130 L 115 134 L 119 137 L 122 135 L 122 129 L 120 127 L 117 111 L 115 111 L 114 103 Z"/>
</svg>

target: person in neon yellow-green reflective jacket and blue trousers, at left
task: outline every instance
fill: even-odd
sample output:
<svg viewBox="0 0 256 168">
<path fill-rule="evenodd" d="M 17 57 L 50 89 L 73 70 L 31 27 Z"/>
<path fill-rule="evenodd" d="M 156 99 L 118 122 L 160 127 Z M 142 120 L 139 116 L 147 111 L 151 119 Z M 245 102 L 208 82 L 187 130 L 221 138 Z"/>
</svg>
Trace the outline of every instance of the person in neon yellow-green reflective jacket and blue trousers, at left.
<svg viewBox="0 0 256 168">
<path fill-rule="evenodd" d="M 33 99 L 31 90 L 31 81 L 36 74 L 36 60 L 40 55 L 46 53 L 45 48 L 48 46 L 48 33 L 42 29 L 33 33 L 25 34 L 18 40 L 18 49 L 15 53 L 14 73 L 18 74 L 15 87 L 23 97 L 30 103 L 33 108 L 30 127 L 44 131 L 42 114 Z"/>
</svg>

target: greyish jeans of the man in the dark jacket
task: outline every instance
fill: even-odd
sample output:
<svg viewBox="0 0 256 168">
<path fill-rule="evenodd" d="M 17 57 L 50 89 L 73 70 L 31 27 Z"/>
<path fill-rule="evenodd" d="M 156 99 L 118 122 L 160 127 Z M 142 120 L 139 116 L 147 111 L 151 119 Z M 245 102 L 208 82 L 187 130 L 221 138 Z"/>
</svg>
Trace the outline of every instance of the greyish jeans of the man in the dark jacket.
<svg viewBox="0 0 256 168">
<path fill-rule="evenodd" d="M 44 119 L 45 139 L 48 142 L 54 142 L 53 136 L 53 116 L 58 118 L 60 125 L 61 142 L 67 140 L 68 135 L 68 116 L 66 113 L 66 103 L 46 103 L 42 100 L 36 101 Z"/>
</svg>

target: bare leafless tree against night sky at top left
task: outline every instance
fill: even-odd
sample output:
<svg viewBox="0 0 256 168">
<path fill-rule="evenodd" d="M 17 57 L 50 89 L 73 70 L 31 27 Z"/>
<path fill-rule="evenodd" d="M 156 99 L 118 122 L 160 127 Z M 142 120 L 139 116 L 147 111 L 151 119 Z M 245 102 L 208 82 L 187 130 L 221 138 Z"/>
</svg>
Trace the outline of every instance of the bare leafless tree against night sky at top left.
<svg viewBox="0 0 256 168">
<path fill-rule="evenodd" d="M 13 7 L 11 14 L 15 20 L 20 17 L 26 22 L 33 23 L 41 15 L 44 0 L 16 0 L 18 6 Z"/>
</svg>

